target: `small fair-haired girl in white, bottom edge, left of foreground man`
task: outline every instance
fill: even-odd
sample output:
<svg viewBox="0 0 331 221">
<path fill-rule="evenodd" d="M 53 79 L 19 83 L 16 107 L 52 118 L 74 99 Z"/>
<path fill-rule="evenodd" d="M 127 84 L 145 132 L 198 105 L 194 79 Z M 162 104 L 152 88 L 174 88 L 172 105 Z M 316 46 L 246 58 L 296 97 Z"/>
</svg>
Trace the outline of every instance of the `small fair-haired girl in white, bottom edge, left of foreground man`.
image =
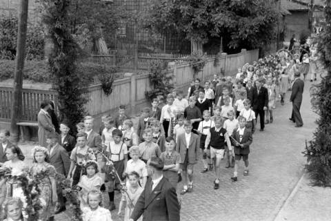
<svg viewBox="0 0 331 221">
<path fill-rule="evenodd" d="M 88 207 L 83 211 L 83 221 L 112 221 L 112 215 L 108 209 L 101 207 L 102 193 L 98 190 L 92 190 L 87 195 Z"/>
</svg>

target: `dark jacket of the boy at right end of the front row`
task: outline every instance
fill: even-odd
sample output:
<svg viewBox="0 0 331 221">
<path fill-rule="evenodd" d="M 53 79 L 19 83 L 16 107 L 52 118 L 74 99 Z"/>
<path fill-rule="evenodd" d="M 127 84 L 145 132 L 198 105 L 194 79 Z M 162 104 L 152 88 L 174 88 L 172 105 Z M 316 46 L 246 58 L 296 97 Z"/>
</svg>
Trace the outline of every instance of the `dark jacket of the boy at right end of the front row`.
<svg viewBox="0 0 331 221">
<path fill-rule="evenodd" d="M 243 147 L 239 146 L 237 142 L 235 142 L 232 138 L 234 140 L 237 140 L 239 144 L 243 144 Z M 231 144 L 234 146 L 234 154 L 247 155 L 248 153 L 250 153 L 250 144 L 252 144 L 253 142 L 252 132 L 250 130 L 245 128 L 245 130 L 243 131 L 243 139 L 241 140 L 241 142 L 238 129 L 233 131 L 232 138 L 230 138 L 230 140 Z"/>
</svg>

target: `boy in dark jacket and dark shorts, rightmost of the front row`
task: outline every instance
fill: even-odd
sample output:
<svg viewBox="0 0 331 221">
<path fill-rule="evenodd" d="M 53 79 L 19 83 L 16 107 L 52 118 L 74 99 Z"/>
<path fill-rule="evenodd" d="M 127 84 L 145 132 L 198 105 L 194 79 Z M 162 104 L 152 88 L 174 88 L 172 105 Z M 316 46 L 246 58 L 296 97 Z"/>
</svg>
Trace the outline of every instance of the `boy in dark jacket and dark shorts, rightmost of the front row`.
<svg viewBox="0 0 331 221">
<path fill-rule="evenodd" d="M 245 170 L 243 171 L 243 175 L 248 175 L 248 154 L 250 153 L 250 144 L 252 144 L 253 137 L 252 132 L 245 128 L 246 119 L 245 117 L 238 117 L 239 128 L 236 131 L 233 131 L 231 142 L 234 146 L 234 159 L 236 160 L 234 163 L 234 172 L 231 180 L 236 182 L 238 180 L 238 164 L 241 158 L 243 158 L 243 162 L 245 163 Z"/>
</svg>

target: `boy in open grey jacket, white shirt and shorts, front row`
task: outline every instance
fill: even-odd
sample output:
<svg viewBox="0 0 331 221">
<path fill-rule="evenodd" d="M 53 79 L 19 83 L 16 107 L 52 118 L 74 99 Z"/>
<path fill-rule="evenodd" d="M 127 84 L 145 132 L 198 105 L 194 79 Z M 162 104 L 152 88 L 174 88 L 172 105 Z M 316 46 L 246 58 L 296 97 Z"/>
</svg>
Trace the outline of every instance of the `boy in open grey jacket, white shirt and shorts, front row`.
<svg viewBox="0 0 331 221">
<path fill-rule="evenodd" d="M 181 155 L 181 170 L 183 177 L 183 190 L 181 195 L 191 193 L 193 190 L 193 167 L 198 162 L 198 151 L 200 146 L 199 136 L 192 133 L 192 123 L 184 122 L 185 133 L 179 135 L 176 151 Z"/>
</svg>

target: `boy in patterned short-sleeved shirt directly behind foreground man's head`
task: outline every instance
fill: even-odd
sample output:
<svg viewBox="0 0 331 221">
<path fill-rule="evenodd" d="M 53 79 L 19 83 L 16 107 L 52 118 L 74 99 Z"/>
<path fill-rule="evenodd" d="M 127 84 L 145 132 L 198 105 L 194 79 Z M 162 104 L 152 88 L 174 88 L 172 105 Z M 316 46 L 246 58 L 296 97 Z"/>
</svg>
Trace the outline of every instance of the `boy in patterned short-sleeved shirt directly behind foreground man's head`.
<svg viewBox="0 0 331 221">
<path fill-rule="evenodd" d="M 181 162 L 181 155 L 174 150 L 175 146 L 174 138 L 167 137 L 165 151 L 160 156 L 164 163 L 163 176 L 169 180 L 174 189 L 177 188 L 179 163 Z"/>
</svg>

